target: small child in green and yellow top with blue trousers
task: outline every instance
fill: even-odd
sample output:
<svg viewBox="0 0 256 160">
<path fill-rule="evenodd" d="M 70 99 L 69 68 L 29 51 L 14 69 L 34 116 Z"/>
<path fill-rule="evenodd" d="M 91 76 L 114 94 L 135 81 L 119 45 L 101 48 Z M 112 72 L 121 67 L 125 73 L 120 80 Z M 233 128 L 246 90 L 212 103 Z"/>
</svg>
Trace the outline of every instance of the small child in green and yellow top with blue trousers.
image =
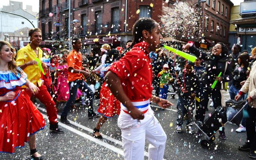
<svg viewBox="0 0 256 160">
<path fill-rule="evenodd" d="M 172 82 L 172 75 L 168 72 L 168 64 L 164 64 L 163 70 L 158 73 L 157 77 L 160 78 L 159 97 L 167 99 L 169 83 Z"/>
</svg>

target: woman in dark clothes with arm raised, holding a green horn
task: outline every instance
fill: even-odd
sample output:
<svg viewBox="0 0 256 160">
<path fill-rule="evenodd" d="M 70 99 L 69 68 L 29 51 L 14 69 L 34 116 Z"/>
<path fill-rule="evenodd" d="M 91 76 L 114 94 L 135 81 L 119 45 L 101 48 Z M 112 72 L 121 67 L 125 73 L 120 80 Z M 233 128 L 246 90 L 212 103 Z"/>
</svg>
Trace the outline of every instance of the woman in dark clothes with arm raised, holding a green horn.
<svg viewBox="0 0 256 160">
<path fill-rule="evenodd" d="M 184 50 L 189 50 L 191 54 L 202 58 L 205 62 L 205 73 L 202 76 L 202 86 L 201 86 L 201 96 L 200 102 L 201 106 L 196 109 L 196 119 L 204 122 L 205 110 L 208 106 L 208 101 L 210 96 L 212 96 L 212 101 L 214 102 L 214 108 L 216 109 L 221 105 L 221 85 L 225 85 L 225 82 L 229 82 L 233 79 L 232 74 L 232 64 L 228 56 L 228 49 L 225 44 L 219 42 L 212 48 L 212 53 L 207 54 L 198 48 L 196 48 L 192 43 L 185 45 Z M 226 71 L 225 67 L 227 65 Z M 221 76 L 218 74 L 222 72 Z M 210 88 L 214 80 L 217 80 L 217 84 L 214 89 Z M 202 132 L 199 130 L 196 136 L 202 136 Z M 220 131 L 220 138 L 226 139 L 224 128 Z"/>
</svg>

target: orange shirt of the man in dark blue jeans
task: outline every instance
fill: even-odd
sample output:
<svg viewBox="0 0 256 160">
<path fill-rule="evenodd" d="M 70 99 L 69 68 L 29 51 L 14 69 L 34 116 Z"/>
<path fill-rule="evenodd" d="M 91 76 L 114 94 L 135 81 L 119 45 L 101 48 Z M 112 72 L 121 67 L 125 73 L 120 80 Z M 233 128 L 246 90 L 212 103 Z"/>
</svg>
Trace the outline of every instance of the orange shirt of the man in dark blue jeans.
<svg viewBox="0 0 256 160">
<path fill-rule="evenodd" d="M 82 53 L 76 52 L 76 50 L 72 50 L 67 56 L 67 64 L 68 68 L 72 67 L 76 70 L 83 70 L 82 67 Z M 68 81 L 72 82 L 74 80 L 82 79 L 82 73 L 73 73 L 68 72 Z"/>
</svg>

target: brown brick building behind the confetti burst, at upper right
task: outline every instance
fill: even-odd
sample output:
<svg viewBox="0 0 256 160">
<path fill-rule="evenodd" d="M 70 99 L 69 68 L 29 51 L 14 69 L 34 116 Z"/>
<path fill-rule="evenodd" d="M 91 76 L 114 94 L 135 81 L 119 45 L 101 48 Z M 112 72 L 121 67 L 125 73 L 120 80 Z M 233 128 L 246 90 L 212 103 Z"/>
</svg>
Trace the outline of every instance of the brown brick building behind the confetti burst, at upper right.
<svg viewBox="0 0 256 160">
<path fill-rule="evenodd" d="M 191 1 L 191 4 L 198 2 L 198 0 L 186 1 Z M 196 4 L 195 7 L 199 7 L 203 15 L 200 46 L 209 49 L 209 47 L 214 46 L 217 42 L 228 44 L 230 10 L 234 4 L 230 0 L 206 0 L 206 2 L 199 4 Z M 201 36 L 199 35 L 199 37 Z"/>
</svg>

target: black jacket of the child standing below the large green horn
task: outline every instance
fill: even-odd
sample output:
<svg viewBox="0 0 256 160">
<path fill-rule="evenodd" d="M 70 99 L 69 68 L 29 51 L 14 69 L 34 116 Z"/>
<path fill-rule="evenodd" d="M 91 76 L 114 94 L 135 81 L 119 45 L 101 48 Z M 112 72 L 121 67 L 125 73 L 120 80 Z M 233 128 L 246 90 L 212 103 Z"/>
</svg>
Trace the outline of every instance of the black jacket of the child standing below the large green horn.
<svg viewBox="0 0 256 160">
<path fill-rule="evenodd" d="M 182 97 L 190 97 L 192 93 L 196 94 L 196 97 L 199 97 L 200 92 L 200 80 L 196 75 L 196 72 L 193 70 L 191 74 L 178 74 L 178 79 L 175 81 L 175 89 L 178 91 L 178 94 L 182 94 L 182 90 L 187 90 L 188 92 L 183 93 Z M 186 88 L 186 89 L 185 89 Z"/>
</svg>

